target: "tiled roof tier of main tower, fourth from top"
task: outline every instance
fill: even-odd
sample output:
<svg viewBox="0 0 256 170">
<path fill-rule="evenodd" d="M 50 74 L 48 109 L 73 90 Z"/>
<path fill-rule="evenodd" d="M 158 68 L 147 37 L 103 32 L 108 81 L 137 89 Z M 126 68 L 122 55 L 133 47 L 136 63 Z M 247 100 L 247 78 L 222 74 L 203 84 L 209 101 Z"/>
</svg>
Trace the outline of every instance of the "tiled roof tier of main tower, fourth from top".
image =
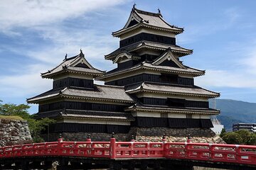
<svg viewBox="0 0 256 170">
<path fill-rule="evenodd" d="M 174 86 L 166 84 L 154 84 L 148 82 L 138 84 L 137 86 L 130 87 L 126 90 L 128 94 L 134 94 L 139 91 L 149 91 L 162 94 L 178 94 L 184 96 L 206 96 L 209 98 L 215 98 L 220 96 L 220 94 L 218 93 L 202 89 L 198 86 Z"/>
</svg>

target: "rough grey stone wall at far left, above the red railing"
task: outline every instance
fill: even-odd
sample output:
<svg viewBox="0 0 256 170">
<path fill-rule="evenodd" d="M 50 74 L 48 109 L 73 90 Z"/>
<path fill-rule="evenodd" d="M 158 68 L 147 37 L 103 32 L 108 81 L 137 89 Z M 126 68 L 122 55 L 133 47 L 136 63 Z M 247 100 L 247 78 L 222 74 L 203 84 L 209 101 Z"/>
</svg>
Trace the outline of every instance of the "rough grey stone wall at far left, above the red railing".
<svg viewBox="0 0 256 170">
<path fill-rule="evenodd" d="M 0 119 L 0 147 L 33 143 L 25 120 Z"/>
</svg>

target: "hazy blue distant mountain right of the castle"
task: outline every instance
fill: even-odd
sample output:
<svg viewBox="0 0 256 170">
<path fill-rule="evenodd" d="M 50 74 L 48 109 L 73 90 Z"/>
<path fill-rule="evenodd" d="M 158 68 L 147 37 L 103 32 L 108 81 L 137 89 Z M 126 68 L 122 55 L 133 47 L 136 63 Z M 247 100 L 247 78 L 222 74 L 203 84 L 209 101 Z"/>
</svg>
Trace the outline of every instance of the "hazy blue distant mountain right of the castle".
<svg viewBox="0 0 256 170">
<path fill-rule="evenodd" d="M 230 99 L 215 100 L 216 108 L 220 110 L 217 118 L 226 130 L 232 131 L 233 123 L 256 123 L 256 103 Z M 210 100 L 210 108 L 213 107 L 214 102 Z"/>
</svg>

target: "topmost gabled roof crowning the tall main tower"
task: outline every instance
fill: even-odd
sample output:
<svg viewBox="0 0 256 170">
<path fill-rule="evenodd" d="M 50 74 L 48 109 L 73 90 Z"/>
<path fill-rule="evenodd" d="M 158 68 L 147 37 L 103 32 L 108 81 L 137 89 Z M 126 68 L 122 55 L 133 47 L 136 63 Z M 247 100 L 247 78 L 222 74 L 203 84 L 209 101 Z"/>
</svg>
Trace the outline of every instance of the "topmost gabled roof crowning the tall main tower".
<svg viewBox="0 0 256 170">
<path fill-rule="evenodd" d="M 151 13 L 147 11 L 142 11 L 135 6 L 132 8 L 131 14 L 124 28 L 117 30 L 112 33 L 114 37 L 119 37 L 124 33 L 128 33 L 131 30 L 137 29 L 139 27 L 152 28 L 156 30 L 164 30 L 171 33 L 179 34 L 183 32 L 183 28 L 178 28 L 176 26 L 171 26 L 169 23 L 164 21 L 163 16 L 160 13 Z"/>
</svg>

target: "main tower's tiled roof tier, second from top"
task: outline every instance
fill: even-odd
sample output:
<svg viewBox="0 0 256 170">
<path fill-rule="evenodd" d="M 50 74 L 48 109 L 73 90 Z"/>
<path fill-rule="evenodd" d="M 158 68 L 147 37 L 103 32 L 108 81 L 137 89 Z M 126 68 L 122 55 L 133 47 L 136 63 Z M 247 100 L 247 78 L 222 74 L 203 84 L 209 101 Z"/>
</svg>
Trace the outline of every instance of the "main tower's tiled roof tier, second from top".
<svg viewBox="0 0 256 170">
<path fill-rule="evenodd" d="M 126 47 L 118 48 L 114 52 L 111 52 L 109 55 L 105 55 L 105 59 L 114 60 L 114 58 L 119 55 L 120 52 L 127 51 L 133 52 L 135 50 L 139 50 L 141 48 L 151 48 L 156 50 L 167 50 L 171 49 L 172 52 L 178 53 L 180 56 L 190 55 L 193 50 L 188 50 L 183 47 L 179 47 L 178 45 L 167 45 L 159 42 L 150 42 L 150 41 L 139 41 L 132 45 L 127 45 Z"/>
</svg>

